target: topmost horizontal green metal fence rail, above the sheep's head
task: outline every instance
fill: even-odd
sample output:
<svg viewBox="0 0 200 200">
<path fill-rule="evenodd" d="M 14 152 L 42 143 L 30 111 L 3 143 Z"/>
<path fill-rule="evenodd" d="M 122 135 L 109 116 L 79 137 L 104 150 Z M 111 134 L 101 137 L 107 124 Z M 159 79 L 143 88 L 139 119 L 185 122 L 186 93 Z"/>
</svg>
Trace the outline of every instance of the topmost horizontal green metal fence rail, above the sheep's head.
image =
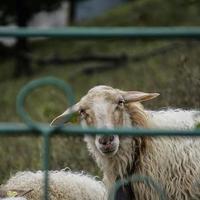
<svg viewBox="0 0 200 200">
<path fill-rule="evenodd" d="M 4 28 L 0 37 L 64 37 L 70 39 L 104 38 L 200 38 L 199 27 L 68 27 Z"/>
</svg>

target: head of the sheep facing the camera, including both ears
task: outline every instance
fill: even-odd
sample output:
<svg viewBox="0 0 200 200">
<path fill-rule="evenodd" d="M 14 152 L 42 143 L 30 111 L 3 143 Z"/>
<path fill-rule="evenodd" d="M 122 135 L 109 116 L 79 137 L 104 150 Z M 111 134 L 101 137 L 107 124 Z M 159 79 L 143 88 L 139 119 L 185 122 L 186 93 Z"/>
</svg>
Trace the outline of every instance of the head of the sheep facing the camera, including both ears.
<svg viewBox="0 0 200 200">
<path fill-rule="evenodd" d="M 96 86 L 88 91 L 74 106 L 68 108 L 63 114 L 56 117 L 51 125 L 66 123 L 69 114 L 79 113 L 80 123 L 83 127 L 116 128 L 121 126 L 138 125 L 137 112 L 142 110 L 140 102 L 157 97 L 158 93 L 144 93 L 139 91 L 122 91 L 109 86 Z M 130 105 L 134 109 L 130 111 Z M 143 120 L 140 120 L 143 121 Z M 114 155 L 118 151 L 120 141 L 117 135 L 95 137 L 95 146 L 102 155 Z"/>
</svg>

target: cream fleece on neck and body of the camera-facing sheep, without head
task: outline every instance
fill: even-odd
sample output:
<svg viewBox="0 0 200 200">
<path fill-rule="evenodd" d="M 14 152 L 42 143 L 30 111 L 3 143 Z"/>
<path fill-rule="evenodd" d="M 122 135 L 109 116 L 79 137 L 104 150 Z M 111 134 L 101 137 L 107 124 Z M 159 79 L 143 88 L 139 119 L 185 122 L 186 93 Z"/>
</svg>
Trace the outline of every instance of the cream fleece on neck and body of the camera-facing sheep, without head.
<svg viewBox="0 0 200 200">
<path fill-rule="evenodd" d="M 199 111 L 195 110 L 145 112 L 151 128 L 189 130 L 199 122 Z M 134 137 L 120 139 L 119 150 L 113 157 L 102 156 L 92 137 L 85 140 L 104 173 L 104 182 L 108 188 L 112 187 L 121 174 L 126 176 L 127 166 L 135 162 L 131 156 L 135 152 Z M 148 137 L 146 150 L 141 154 L 138 168 L 133 173 L 149 176 L 158 182 L 166 191 L 167 199 L 199 199 L 200 138 Z M 133 191 L 138 200 L 158 199 L 155 191 L 141 183 L 133 184 Z"/>
</svg>

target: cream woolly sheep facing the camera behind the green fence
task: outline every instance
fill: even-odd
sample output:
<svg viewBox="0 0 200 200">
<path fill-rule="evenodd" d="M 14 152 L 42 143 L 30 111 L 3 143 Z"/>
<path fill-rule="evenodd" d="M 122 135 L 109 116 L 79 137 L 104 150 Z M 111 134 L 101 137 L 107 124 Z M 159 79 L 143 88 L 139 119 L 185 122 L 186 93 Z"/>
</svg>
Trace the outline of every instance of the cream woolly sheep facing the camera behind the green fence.
<svg viewBox="0 0 200 200">
<path fill-rule="evenodd" d="M 200 112 L 196 110 L 145 110 L 141 102 L 158 95 L 96 86 L 51 125 L 64 124 L 72 113 L 79 113 L 83 127 L 97 128 L 134 126 L 186 130 L 193 129 L 200 121 Z M 195 187 L 200 178 L 199 138 L 86 135 L 84 140 L 103 171 L 107 189 L 116 180 L 139 174 L 161 184 L 168 199 L 200 199 L 200 187 Z M 143 183 L 131 184 L 130 188 L 131 199 L 158 199 L 156 192 Z"/>
</svg>

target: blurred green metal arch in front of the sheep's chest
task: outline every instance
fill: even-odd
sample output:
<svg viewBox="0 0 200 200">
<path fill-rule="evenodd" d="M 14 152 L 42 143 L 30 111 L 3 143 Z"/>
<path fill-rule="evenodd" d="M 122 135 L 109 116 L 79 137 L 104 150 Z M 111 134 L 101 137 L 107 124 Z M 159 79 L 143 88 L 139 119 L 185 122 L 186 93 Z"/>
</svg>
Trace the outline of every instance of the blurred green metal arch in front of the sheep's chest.
<svg viewBox="0 0 200 200">
<path fill-rule="evenodd" d="M 147 185 L 148 187 L 153 188 L 159 196 L 160 200 L 167 200 L 167 195 L 165 190 L 158 184 L 156 183 L 151 177 L 149 176 L 142 176 L 142 175 L 132 175 L 129 176 L 128 178 L 124 179 L 124 180 L 118 180 L 112 187 L 110 193 L 109 193 L 109 200 L 115 200 L 116 199 L 116 192 L 118 191 L 118 189 L 120 187 L 122 187 L 125 184 L 128 183 L 136 183 L 136 182 L 143 182 L 145 185 Z"/>
</svg>

